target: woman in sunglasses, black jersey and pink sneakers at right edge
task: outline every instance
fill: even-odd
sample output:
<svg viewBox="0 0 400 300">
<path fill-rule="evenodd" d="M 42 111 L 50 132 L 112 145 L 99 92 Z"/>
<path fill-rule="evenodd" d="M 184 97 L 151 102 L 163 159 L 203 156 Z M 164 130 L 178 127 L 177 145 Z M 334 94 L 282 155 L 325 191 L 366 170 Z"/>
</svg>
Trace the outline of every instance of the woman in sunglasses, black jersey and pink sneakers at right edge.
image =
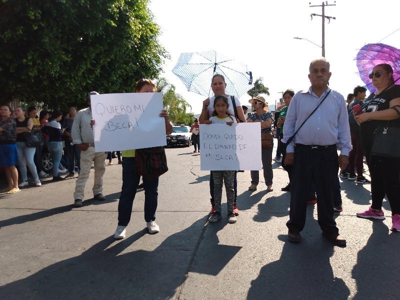
<svg viewBox="0 0 400 300">
<path fill-rule="evenodd" d="M 371 154 L 373 133 L 378 125 L 390 120 L 390 126 L 400 127 L 400 85 L 394 85 L 393 69 L 387 63 L 374 66 L 369 78 L 376 92 L 365 100 L 364 113 L 354 114 L 354 118 L 360 125 L 361 143 L 371 177 L 372 204 L 357 216 L 384 219 L 382 201 L 387 195 L 392 215 L 390 229 L 400 231 L 400 159 Z"/>
</svg>

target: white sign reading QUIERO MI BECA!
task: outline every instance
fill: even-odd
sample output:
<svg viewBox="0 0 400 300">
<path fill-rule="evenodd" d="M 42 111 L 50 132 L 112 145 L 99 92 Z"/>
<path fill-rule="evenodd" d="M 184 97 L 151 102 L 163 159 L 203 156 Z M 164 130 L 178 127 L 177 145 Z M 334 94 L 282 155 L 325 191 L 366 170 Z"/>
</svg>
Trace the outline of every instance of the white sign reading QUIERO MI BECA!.
<svg viewBox="0 0 400 300">
<path fill-rule="evenodd" d="M 96 152 L 166 145 L 161 93 L 90 95 L 90 103 Z"/>
</svg>

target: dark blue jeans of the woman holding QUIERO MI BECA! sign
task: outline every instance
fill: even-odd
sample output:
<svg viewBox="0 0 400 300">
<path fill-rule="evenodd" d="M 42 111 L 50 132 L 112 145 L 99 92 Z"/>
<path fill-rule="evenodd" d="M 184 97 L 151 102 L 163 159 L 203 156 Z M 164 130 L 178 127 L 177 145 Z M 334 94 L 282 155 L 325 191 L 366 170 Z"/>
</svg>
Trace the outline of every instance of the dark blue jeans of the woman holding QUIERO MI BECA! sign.
<svg viewBox="0 0 400 300">
<path fill-rule="evenodd" d="M 132 213 L 133 199 L 136 195 L 140 174 L 137 172 L 135 157 L 122 157 L 122 189 L 118 203 L 118 226 L 127 226 Z M 144 220 L 155 220 L 158 200 L 158 177 L 143 178 Z"/>
</svg>

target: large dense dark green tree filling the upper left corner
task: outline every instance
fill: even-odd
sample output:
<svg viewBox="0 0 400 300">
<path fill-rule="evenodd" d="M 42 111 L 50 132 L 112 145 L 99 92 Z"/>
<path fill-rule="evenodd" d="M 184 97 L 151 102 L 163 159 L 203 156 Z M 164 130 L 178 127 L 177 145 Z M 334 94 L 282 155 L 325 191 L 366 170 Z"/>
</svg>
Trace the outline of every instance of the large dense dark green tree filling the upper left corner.
<svg viewBox="0 0 400 300">
<path fill-rule="evenodd" d="M 83 106 L 156 78 L 168 54 L 148 2 L 0 0 L 0 99 Z"/>
</svg>

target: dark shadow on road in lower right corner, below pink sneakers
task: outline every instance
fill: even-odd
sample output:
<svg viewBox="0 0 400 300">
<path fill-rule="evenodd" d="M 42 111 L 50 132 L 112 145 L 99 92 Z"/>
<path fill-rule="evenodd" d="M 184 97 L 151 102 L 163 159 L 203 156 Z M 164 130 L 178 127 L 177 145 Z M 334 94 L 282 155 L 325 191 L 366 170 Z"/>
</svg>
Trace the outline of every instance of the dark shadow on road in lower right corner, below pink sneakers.
<svg viewBox="0 0 400 300">
<path fill-rule="evenodd" d="M 372 234 L 365 246 L 358 251 L 357 264 L 351 272 L 357 284 L 357 293 L 353 299 L 398 299 L 400 232 L 388 234 L 388 228 L 381 220 L 364 221 L 372 223 Z"/>
</svg>

